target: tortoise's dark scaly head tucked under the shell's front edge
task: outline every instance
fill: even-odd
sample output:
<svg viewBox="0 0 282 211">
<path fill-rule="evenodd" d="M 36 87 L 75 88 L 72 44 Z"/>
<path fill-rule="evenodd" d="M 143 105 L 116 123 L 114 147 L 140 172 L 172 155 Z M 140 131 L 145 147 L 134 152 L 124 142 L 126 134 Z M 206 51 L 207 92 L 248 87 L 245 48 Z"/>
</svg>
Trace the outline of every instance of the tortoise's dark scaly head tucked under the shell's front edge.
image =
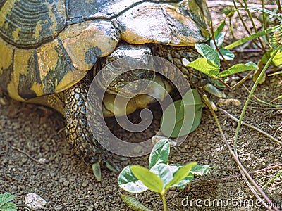
<svg viewBox="0 0 282 211">
<path fill-rule="evenodd" d="M 144 91 L 154 79 L 154 63 L 147 46 L 119 46 L 102 60 L 99 87 L 109 94 L 132 97 Z M 109 84 L 107 86 L 106 84 Z"/>
</svg>

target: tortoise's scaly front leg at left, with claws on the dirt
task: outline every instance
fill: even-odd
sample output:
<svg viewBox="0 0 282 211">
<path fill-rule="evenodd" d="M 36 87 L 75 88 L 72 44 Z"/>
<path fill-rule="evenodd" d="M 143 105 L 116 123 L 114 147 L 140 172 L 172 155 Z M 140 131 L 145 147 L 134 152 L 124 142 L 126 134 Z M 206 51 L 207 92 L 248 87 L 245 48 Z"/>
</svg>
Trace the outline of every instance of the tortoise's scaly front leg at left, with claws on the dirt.
<svg viewBox="0 0 282 211">
<path fill-rule="evenodd" d="M 86 102 L 90 84 L 90 76 L 86 75 L 80 82 L 64 91 L 66 139 L 75 157 L 83 158 L 86 163 L 91 164 L 94 176 L 101 181 L 100 162 L 105 162 L 110 170 L 116 170 L 117 167 L 111 165 L 108 160 L 109 152 L 94 139 L 88 125 Z"/>
</svg>

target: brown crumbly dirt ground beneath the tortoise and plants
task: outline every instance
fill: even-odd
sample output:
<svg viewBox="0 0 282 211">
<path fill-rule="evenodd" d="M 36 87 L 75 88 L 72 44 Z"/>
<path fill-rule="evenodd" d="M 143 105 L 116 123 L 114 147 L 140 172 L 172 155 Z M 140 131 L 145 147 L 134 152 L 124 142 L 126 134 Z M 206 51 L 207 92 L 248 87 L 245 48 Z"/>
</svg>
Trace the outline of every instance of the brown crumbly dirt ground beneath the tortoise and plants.
<svg viewBox="0 0 282 211">
<path fill-rule="evenodd" d="M 216 8 L 220 10 L 221 8 Z M 217 13 L 218 14 L 218 13 Z M 219 18 L 212 12 L 213 17 Z M 240 34 L 240 33 L 239 33 Z M 257 55 L 240 53 L 247 61 L 257 62 Z M 252 87 L 252 80 L 245 85 Z M 255 95 L 270 102 L 281 95 L 282 77 L 267 77 L 259 85 Z M 228 99 L 240 101 L 240 105 L 231 101 L 221 105 L 235 117 L 247 98 L 243 86 L 233 91 L 226 91 Z M 282 103 L 277 101 L 276 103 Z M 236 123 L 217 112 L 221 127 L 232 145 Z M 247 108 L 244 121 L 276 136 L 282 141 L 282 110 L 269 108 L 253 99 Z M 81 160 L 73 158 L 64 135 L 63 117 L 54 110 L 13 101 L 0 92 L 0 193 L 6 191 L 15 195 L 15 203 L 25 203 L 27 193 L 37 193 L 47 201 L 44 210 L 130 210 L 124 205 L 120 193 L 125 193 L 117 186 L 117 174 L 103 170 L 102 182 L 94 180 L 92 170 Z M 20 149 L 20 151 L 18 151 Z M 23 152 L 35 160 L 28 158 Z M 248 172 L 263 170 L 252 174 L 259 186 L 263 186 L 282 171 L 281 146 L 252 129 L 242 127 L 238 140 L 238 155 Z M 44 164 L 37 160 L 44 158 Z M 202 122 L 195 132 L 178 148 L 171 148 L 170 162 L 185 164 L 196 161 L 203 165 L 216 165 L 212 174 L 196 177 L 190 191 L 178 195 L 177 190 L 168 191 L 168 207 L 171 210 L 265 210 L 255 204 L 252 195 L 242 177 L 236 177 L 240 171 L 228 152 L 209 110 L 204 109 Z M 148 155 L 130 158 L 119 162 L 122 169 L 126 165 L 148 165 Z M 200 181 L 216 180 L 206 184 Z M 282 209 L 281 177 L 264 189 L 266 195 Z M 135 197 L 135 196 L 134 196 Z M 136 196 L 137 200 L 154 210 L 161 210 L 162 205 L 157 194 L 147 191 Z M 195 200 L 198 201 L 197 206 Z M 212 201 L 215 201 L 213 205 Z M 223 207 L 216 201 L 223 201 Z M 209 201 L 212 205 L 207 206 Z M 182 202 L 182 204 L 181 204 Z M 226 205 L 226 206 L 225 206 Z"/>
</svg>

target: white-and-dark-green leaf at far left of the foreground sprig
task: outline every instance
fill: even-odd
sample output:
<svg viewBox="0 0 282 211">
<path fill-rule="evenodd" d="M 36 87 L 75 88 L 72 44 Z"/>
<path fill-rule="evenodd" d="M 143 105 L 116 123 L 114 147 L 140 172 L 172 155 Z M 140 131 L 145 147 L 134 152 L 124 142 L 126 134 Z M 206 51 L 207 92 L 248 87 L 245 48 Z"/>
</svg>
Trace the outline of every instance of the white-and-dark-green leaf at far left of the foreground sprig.
<svg viewBox="0 0 282 211">
<path fill-rule="evenodd" d="M 142 181 L 133 175 L 130 166 L 125 167 L 118 175 L 118 186 L 130 193 L 142 193 L 148 189 Z"/>
</svg>

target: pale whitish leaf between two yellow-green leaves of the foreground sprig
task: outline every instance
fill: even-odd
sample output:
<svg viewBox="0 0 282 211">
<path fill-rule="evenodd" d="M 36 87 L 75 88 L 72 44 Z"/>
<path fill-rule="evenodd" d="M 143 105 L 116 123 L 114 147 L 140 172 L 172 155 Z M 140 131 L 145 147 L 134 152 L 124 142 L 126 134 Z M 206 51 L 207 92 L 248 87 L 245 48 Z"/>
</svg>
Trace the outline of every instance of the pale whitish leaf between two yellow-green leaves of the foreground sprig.
<svg viewBox="0 0 282 211">
<path fill-rule="evenodd" d="M 168 167 L 168 165 L 164 163 L 160 163 L 159 165 L 154 165 L 150 172 L 157 174 L 159 178 L 163 181 L 163 189 L 172 179 L 173 179 L 173 171 Z"/>
</svg>

